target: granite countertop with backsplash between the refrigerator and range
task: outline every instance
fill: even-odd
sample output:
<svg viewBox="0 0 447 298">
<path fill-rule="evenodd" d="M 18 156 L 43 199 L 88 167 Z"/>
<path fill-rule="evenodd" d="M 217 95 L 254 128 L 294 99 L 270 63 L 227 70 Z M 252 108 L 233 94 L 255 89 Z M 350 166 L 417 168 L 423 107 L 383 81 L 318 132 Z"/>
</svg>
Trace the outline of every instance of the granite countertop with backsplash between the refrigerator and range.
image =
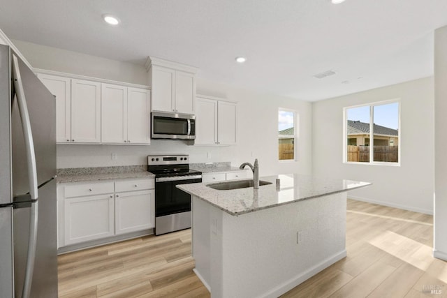
<svg viewBox="0 0 447 298">
<path fill-rule="evenodd" d="M 147 165 L 117 167 L 74 167 L 57 170 L 57 183 L 100 181 L 110 179 L 154 178 Z"/>
</svg>

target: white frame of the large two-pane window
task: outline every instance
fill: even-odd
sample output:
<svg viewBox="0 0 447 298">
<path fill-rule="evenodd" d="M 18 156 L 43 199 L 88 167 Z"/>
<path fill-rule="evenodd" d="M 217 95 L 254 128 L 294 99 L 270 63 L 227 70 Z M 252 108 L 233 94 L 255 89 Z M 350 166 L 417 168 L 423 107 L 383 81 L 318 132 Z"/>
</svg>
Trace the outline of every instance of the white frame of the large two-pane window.
<svg viewBox="0 0 447 298">
<path fill-rule="evenodd" d="M 387 105 L 390 103 L 397 103 L 398 109 L 397 109 L 397 156 L 398 161 L 397 163 L 389 162 L 389 161 L 374 161 L 374 107 L 378 105 Z M 402 148 L 401 148 L 401 121 L 400 121 L 400 111 L 401 111 L 401 99 L 400 98 L 394 98 L 390 100 L 382 100 L 382 101 L 376 101 L 374 103 L 365 103 L 361 105 L 351 105 L 349 107 L 343 107 L 343 163 L 346 165 L 385 165 L 390 167 L 400 167 L 402 163 Z M 347 110 L 356 108 L 356 107 L 368 107 L 369 106 L 369 147 L 372 148 L 372 150 L 369 150 L 369 162 L 360 162 L 360 161 L 348 161 L 348 117 L 347 117 Z M 373 135 L 373 137 L 371 137 Z"/>
</svg>

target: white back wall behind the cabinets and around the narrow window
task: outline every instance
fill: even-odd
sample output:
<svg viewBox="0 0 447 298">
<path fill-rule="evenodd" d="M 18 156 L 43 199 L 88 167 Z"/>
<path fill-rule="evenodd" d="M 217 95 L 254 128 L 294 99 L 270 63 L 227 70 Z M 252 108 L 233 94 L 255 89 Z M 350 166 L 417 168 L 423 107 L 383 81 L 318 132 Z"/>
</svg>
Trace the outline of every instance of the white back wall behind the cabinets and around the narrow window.
<svg viewBox="0 0 447 298">
<path fill-rule="evenodd" d="M 32 66 L 64 73 L 147 84 L 143 66 L 14 40 Z M 152 140 L 149 146 L 58 145 L 57 167 L 140 165 L 150 154 L 189 154 L 191 163 L 231 161 L 233 165 L 258 158 L 261 175 L 312 171 L 312 104 L 292 98 L 237 89 L 226 84 L 197 80 L 197 93 L 227 98 L 238 103 L 237 145 L 195 147 L 184 141 Z M 278 161 L 278 108 L 300 115 L 297 162 Z M 116 153 L 117 161 L 110 156 Z"/>
</svg>

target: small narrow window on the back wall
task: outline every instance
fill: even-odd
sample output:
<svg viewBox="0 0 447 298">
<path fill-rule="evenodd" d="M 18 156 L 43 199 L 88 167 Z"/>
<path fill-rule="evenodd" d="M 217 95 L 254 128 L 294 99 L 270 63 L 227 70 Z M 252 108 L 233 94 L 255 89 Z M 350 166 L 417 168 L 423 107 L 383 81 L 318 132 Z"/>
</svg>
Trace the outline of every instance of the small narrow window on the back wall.
<svg viewBox="0 0 447 298">
<path fill-rule="evenodd" d="M 296 147 L 296 114 L 292 110 L 279 109 L 278 153 L 279 161 L 294 161 Z"/>
</svg>

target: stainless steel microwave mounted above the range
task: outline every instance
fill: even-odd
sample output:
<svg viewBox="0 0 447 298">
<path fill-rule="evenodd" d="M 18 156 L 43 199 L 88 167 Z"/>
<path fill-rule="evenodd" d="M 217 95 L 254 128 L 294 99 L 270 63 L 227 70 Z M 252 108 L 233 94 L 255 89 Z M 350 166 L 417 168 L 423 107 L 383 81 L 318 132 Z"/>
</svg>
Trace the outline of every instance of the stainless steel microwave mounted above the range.
<svg viewBox="0 0 447 298">
<path fill-rule="evenodd" d="M 196 116 L 152 112 L 152 139 L 193 140 L 196 138 Z"/>
</svg>

